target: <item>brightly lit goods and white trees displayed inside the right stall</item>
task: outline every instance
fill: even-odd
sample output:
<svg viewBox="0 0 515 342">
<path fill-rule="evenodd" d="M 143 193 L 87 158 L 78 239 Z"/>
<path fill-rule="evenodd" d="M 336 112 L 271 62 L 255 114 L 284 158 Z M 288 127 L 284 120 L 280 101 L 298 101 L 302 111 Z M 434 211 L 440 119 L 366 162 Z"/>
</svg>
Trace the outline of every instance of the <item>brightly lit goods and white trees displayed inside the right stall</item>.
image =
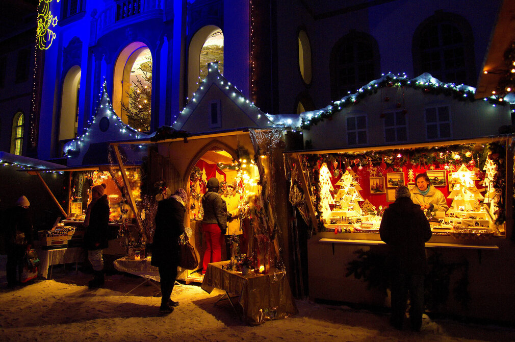
<svg viewBox="0 0 515 342">
<path fill-rule="evenodd" d="M 447 211 L 426 210 L 433 235 L 473 240 L 505 236 L 505 151 L 503 144 L 491 142 L 304 156 L 315 213 L 323 224 L 319 230 L 379 233 L 395 189 L 413 189 L 415 177 L 425 173 L 449 206 Z"/>
</svg>

